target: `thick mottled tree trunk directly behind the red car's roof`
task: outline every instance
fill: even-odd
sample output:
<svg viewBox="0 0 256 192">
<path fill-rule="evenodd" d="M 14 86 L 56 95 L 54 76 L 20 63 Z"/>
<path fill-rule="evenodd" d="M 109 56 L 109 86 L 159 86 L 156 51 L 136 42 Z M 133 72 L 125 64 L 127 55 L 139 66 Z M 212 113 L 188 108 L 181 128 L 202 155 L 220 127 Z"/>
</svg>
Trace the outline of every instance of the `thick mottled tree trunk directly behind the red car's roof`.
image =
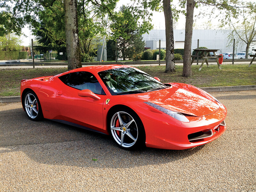
<svg viewBox="0 0 256 192">
<path fill-rule="evenodd" d="M 82 67 L 78 38 L 77 0 L 64 0 L 68 70 Z"/>
</svg>

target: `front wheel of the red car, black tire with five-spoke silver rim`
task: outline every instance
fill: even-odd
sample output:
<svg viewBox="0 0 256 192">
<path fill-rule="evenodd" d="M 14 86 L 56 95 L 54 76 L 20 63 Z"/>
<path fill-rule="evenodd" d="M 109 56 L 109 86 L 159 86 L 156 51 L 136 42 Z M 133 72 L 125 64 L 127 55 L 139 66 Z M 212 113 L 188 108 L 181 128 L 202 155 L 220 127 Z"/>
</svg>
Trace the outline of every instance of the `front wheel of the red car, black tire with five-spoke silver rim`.
<svg viewBox="0 0 256 192">
<path fill-rule="evenodd" d="M 131 150 L 145 147 L 144 126 L 133 110 L 119 108 L 113 110 L 108 117 L 110 135 L 120 148 Z"/>
</svg>

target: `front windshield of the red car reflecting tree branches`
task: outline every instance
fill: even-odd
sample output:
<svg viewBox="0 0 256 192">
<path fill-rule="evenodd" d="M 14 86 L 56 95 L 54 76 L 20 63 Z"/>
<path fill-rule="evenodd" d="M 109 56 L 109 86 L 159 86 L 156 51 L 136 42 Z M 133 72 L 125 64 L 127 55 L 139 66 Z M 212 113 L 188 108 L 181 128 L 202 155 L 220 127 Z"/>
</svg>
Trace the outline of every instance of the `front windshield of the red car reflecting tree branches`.
<svg viewBox="0 0 256 192">
<path fill-rule="evenodd" d="M 164 89 L 166 85 L 135 68 L 100 71 L 99 76 L 112 95 L 132 94 Z"/>
</svg>

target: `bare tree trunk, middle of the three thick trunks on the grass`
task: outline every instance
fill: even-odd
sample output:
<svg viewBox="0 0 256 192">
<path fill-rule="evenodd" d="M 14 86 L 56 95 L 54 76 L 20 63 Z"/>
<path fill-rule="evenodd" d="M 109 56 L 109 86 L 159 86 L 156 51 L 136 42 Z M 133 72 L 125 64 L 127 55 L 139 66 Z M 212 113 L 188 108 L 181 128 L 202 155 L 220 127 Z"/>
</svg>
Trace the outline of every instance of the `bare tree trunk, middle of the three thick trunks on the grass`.
<svg viewBox="0 0 256 192">
<path fill-rule="evenodd" d="M 164 18 L 165 18 L 165 37 L 166 37 L 165 73 L 168 73 L 168 72 L 175 71 L 172 9 L 171 9 L 170 0 L 163 0 L 163 1 L 164 1 Z M 159 53 L 159 56 L 160 56 L 160 53 Z"/>
</svg>

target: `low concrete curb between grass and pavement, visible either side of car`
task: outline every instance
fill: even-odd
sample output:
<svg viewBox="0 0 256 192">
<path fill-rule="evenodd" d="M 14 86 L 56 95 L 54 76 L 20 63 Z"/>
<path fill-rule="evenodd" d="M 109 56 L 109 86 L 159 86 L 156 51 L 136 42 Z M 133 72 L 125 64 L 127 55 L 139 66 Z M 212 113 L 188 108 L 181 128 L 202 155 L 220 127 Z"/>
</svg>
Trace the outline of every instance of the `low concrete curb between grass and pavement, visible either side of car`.
<svg viewBox="0 0 256 192">
<path fill-rule="evenodd" d="M 256 90 L 256 85 L 238 85 L 227 87 L 199 87 L 206 92 L 222 92 L 222 91 L 246 91 Z M 20 96 L 0 97 L 0 103 L 20 102 Z"/>
</svg>

